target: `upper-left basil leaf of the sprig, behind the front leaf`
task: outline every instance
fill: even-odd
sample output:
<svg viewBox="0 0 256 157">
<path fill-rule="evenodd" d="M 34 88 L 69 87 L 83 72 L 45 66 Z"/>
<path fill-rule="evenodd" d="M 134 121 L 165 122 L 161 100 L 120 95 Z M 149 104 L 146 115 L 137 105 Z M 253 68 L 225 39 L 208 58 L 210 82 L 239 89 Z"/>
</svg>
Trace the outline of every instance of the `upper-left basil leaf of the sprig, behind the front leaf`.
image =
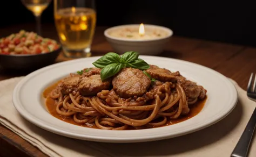
<svg viewBox="0 0 256 157">
<path fill-rule="evenodd" d="M 119 63 L 120 62 L 120 55 L 117 53 L 109 52 L 99 58 L 97 61 L 93 62 L 92 64 L 97 68 L 104 68 L 107 65 L 112 63 Z"/>
</svg>

